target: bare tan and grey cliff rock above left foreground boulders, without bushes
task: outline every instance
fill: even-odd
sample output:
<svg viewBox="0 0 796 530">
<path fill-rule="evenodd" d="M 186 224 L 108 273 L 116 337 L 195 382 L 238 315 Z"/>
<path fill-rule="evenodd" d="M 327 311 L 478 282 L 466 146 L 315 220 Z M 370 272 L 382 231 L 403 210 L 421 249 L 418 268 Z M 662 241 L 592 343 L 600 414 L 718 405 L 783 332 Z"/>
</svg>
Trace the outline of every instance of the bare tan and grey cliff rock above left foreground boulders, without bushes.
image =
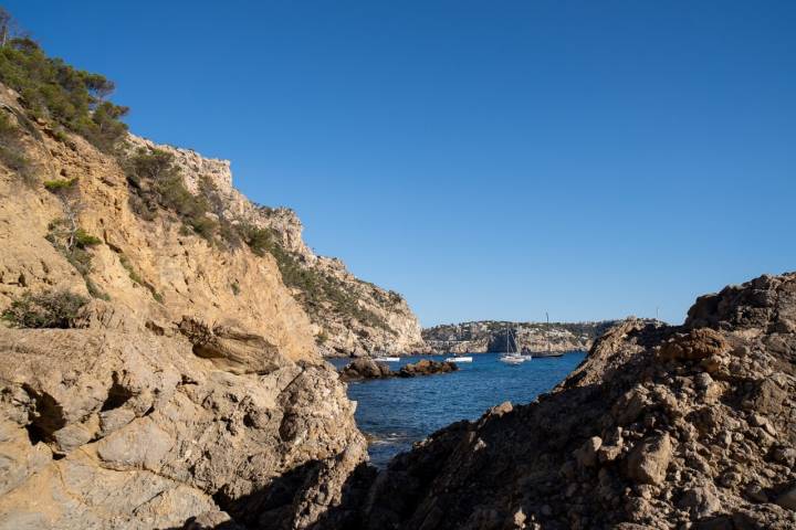
<svg viewBox="0 0 796 530">
<path fill-rule="evenodd" d="M 94 296 L 107 295 L 135 314 L 137 321 L 126 326 L 196 312 L 213 322 L 243 324 L 293 357 L 311 344 L 327 354 L 355 354 L 409 351 L 422 343 L 417 318 L 400 295 L 359 280 L 338 259 L 316 256 L 291 210 L 258 206 L 232 187 L 229 162 L 128 137 L 128 153 L 157 150 L 172 158 L 187 190 L 209 203 L 210 221 L 266 231 L 264 256 L 186 233 L 160 208 L 157 215 L 142 216 L 130 203 L 124 158 L 104 155 L 76 135 L 63 141 L 46 123 L 28 119 L 13 92 L 0 87 L 0 93 L 4 113 L 32 131 L 23 146 L 36 168 L 29 187 L 13 172 L 0 177 L 0 241 L 7 251 L 0 309 L 27 289 L 86 295 L 94 289 Z M 102 240 L 91 248 L 91 272 L 82 275 L 48 241 L 53 223 L 66 214 L 62 198 L 43 183 L 72 179 L 72 214 L 85 233 Z"/>
</svg>

